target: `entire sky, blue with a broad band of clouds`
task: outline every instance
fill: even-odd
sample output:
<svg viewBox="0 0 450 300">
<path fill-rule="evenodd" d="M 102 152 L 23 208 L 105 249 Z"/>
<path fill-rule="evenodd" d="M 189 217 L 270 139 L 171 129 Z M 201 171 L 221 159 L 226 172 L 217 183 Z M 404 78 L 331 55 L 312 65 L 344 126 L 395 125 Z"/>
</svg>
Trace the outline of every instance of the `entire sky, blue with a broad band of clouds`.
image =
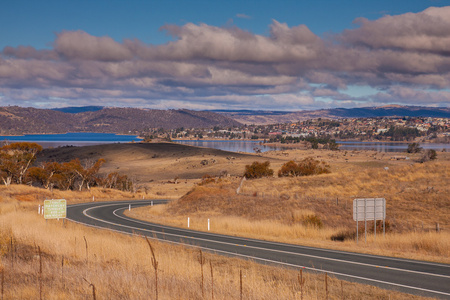
<svg viewBox="0 0 450 300">
<path fill-rule="evenodd" d="M 450 0 L 0 4 L 0 106 L 450 107 Z"/>
</svg>

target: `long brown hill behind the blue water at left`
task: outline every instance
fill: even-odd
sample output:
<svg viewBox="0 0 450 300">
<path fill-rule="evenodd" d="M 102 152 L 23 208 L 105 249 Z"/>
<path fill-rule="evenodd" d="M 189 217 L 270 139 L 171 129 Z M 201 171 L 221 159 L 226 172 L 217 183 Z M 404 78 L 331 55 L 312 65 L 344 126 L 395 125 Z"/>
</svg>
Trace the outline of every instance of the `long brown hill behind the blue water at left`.
<svg viewBox="0 0 450 300">
<path fill-rule="evenodd" d="M 129 133 L 149 128 L 209 128 L 239 126 L 239 122 L 214 112 L 102 108 L 78 113 L 52 109 L 0 107 L 0 134 L 105 132 Z"/>
</svg>

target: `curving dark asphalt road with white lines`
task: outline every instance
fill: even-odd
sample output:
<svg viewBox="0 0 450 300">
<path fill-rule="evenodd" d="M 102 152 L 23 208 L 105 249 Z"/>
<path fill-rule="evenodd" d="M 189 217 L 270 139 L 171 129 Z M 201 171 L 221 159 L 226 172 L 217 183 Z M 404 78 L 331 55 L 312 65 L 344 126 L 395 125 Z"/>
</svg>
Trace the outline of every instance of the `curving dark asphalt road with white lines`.
<svg viewBox="0 0 450 300">
<path fill-rule="evenodd" d="M 152 224 L 126 217 L 125 210 L 165 200 L 91 202 L 70 205 L 69 220 L 122 233 L 144 235 L 177 244 L 267 264 L 327 272 L 337 278 L 410 294 L 450 299 L 450 265 L 358 254 L 226 236 Z"/>
</svg>

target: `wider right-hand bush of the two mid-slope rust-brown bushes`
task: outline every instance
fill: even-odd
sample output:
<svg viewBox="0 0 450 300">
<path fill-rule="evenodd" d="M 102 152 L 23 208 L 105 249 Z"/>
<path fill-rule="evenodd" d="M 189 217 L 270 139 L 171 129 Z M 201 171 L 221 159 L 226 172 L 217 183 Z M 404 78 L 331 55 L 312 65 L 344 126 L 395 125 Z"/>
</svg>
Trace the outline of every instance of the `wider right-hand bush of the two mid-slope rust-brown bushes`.
<svg viewBox="0 0 450 300">
<path fill-rule="evenodd" d="M 285 163 L 278 171 L 278 177 L 309 176 L 324 173 L 330 173 L 330 166 L 312 157 L 307 157 L 298 164 L 292 160 Z"/>
</svg>

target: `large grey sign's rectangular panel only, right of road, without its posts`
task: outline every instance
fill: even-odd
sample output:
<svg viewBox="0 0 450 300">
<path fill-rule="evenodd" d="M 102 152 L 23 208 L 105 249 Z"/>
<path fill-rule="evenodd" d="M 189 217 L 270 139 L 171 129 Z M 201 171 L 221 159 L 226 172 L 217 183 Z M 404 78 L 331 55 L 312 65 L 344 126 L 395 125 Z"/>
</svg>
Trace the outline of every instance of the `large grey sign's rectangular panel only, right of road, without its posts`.
<svg viewBox="0 0 450 300">
<path fill-rule="evenodd" d="M 353 200 L 353 220 L 371 221 L 386 219 L 386 199 L 361 198 Z"/>
</svg>

